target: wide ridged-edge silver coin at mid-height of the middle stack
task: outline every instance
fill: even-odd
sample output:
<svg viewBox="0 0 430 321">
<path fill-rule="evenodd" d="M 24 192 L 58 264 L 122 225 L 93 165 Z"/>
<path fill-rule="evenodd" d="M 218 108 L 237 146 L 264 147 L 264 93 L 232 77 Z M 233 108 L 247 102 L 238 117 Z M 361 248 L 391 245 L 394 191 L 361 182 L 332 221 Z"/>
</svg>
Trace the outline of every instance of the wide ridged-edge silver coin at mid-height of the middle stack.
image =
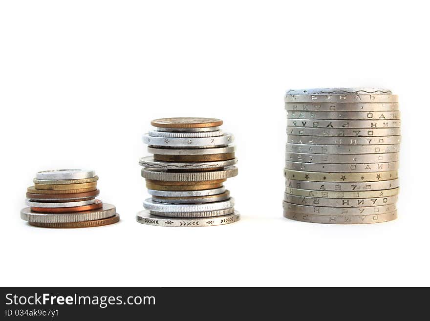
<svg viewBox="0 0 430 321">
<path fill-rule="evenodd" d="M 237 175 L 237 167 L 230 166 L 219 171 L 168 172 L 164 170 L 142 169 L 142 177 L 154 181 L 201 182 L 226 179 Z"/>
</svg>

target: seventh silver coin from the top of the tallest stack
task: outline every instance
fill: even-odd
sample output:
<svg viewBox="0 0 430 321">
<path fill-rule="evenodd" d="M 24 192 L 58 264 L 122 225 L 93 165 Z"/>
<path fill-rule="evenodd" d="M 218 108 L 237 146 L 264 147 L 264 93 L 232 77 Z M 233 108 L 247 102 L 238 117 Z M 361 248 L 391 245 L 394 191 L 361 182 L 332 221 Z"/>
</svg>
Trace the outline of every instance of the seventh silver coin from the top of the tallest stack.
<svg viewBox="0 0 430 321">
<path fill-rule="evenodd" d="M 315 145 L 393 145 L 400 144 L 401 136 L 380 137 L 328 137 L 328 136 L 297 136 L 288 135 L 290 144 Z"/>
</svg>

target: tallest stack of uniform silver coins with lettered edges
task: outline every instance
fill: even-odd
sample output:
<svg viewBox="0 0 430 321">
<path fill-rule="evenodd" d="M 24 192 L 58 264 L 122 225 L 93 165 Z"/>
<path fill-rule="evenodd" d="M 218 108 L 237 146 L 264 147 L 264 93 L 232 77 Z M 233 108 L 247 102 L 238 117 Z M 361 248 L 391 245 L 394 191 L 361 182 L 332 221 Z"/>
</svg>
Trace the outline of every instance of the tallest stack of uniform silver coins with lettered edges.
<svg viewBox="0 0 430 321">
<path fill-rule="evenodd" d="M 382 88 L 288 90 L 284 216 L 332 224 L 397 217 L 400 113 Z"/>
</svg>

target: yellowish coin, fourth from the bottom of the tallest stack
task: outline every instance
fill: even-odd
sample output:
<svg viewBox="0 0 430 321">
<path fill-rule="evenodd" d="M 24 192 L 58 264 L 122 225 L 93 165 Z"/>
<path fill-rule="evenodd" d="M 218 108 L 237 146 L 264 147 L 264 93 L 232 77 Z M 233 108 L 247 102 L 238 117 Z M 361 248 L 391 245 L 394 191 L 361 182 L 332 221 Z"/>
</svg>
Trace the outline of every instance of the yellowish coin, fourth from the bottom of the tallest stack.
<svg viewBox="0 0 430 321">
<path fill-rule="evenodd" d="M 399 194 L 399 188 L 381 191 L 311 191 L 295 188 L 287 188 L 285 193 L 296 196 L 319 197 L 319 198 L 371 198 L 394 196 Z"/>
</svg>

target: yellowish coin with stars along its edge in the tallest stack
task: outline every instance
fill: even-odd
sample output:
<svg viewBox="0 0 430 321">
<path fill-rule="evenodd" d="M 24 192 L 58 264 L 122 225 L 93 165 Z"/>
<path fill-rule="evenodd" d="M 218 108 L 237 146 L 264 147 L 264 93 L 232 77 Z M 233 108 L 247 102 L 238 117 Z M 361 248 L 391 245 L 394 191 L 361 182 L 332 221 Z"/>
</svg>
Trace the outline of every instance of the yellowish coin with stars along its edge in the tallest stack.
<svg viewBox="0 0 430 321">
<path fill-rule="evenodd" d="M 369 173 L 325 173 L 318 171 L 284 170 L 285 178 L 316 182 L 377 182 L 395 179 L 397 171 L 380 171 Z"/>
</svg>

